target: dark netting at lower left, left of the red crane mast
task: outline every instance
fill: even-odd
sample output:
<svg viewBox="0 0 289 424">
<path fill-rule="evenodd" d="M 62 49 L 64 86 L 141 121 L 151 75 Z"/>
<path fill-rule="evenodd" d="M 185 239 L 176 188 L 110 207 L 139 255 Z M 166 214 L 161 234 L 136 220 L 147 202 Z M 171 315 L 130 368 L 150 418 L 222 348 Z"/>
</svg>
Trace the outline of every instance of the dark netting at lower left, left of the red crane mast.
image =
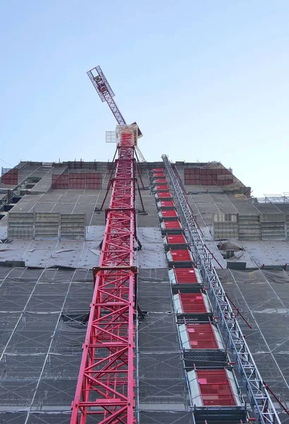
<svg viewBox="0 0 289 424">
<path fill-rule="evenodd" d="M 0 267 L 0 423 L 70 422 L 92 281 L 81 269 Z"/>
</svg>

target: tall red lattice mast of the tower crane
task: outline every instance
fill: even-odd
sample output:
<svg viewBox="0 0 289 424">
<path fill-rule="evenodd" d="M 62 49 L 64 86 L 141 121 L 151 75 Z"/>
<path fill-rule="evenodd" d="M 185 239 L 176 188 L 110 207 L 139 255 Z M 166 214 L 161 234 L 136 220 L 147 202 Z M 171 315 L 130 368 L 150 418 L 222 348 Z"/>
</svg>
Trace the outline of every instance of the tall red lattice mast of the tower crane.
<svg viewBox="0 0 289 424">
<path fill-rule="evenodd" d="M 123 130 L 71 424 L 135 423 L 135 166 L 133 134 Z M 90 421 L 89 421 L 90 422 Z"/>
</svg>

